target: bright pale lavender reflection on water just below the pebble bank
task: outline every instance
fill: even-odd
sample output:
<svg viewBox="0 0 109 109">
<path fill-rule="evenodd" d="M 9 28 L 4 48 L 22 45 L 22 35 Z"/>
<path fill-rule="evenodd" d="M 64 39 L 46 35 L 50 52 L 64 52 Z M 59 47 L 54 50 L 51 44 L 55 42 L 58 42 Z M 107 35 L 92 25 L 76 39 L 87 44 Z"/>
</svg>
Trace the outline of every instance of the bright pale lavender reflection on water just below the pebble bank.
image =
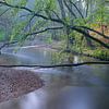
<svg viewBox="0 0 109 109">
<path fill-rule="evenodd" d="M 46 102 L 46 92 L 41 89 L 37 93 L 31 93 L 21 100 L 21 109 L 44 109 Z"/>
</svg>

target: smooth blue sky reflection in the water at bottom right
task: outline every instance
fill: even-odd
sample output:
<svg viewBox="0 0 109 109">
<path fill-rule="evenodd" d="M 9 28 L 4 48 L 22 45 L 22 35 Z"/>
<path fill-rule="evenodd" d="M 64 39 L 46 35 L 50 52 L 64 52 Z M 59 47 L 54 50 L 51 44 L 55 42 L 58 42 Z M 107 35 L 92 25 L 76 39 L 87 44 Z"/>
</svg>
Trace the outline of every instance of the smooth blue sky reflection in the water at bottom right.
<svg viewBox="0 0 109 109">
<path fill-rule="evenodd" d="M 47 109 L 108 109 L 108 88 L 64 87 L 49 101 Z"/>
</svg>

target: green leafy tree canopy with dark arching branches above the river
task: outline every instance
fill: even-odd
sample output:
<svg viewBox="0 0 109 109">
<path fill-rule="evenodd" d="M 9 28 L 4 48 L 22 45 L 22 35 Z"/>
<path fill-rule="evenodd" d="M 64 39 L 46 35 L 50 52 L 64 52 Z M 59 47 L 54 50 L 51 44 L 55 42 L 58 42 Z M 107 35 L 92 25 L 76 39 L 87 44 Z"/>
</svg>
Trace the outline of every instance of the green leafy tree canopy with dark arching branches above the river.
<svg viewBox="0 0 109 109">
<path fill-rule="evenodd" d="M 87 41 L 96 41 L 109 49 L 109 45 L 90 33 L 109 40 L 109 36 L 94 29 L 93 24 L 108 24 L 106 0 L 3 0 L 0 9 L 10 14 L 13 27 L 10 40 L 25 40 L 33 35 L 53 29 L 69 29 L 82 34 Z M 101 10 L 100 10 L 101 9 Z M 96 23 L 95 23 L 96 21 Z M 52 26 L 53 23 L 53 26 Z"/>
</svg>

